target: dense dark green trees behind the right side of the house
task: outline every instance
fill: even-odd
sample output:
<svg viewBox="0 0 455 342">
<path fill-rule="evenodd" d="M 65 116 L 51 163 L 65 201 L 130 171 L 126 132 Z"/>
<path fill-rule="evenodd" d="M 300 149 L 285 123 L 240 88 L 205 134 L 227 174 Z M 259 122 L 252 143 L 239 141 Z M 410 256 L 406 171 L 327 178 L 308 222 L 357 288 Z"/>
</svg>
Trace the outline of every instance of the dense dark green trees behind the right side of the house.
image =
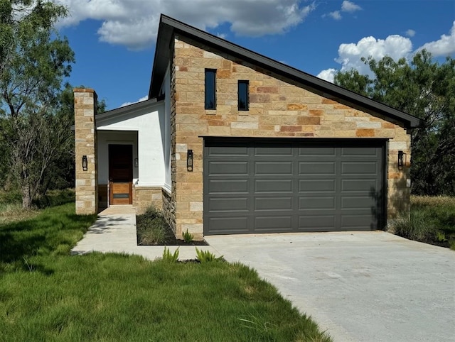
<svg viewBox="0 0 455 342">
<path fill-rule="evenodd" d="M 455 60 L 439 65 L 426 50 L 410 62 L 363 58 L 373 77 L 338 72 L 335 83 L 423 119 L 412 132 L 412 192 L 455 194 Z"/>
</svg>

